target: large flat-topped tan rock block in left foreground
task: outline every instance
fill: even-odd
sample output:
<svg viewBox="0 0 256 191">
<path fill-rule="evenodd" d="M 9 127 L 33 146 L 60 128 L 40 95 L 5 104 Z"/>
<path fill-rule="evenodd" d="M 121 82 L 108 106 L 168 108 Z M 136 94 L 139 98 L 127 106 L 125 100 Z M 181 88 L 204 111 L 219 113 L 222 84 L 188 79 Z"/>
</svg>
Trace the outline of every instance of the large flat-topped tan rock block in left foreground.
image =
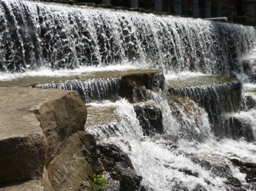
<svg viewBox="0 0 256 191">
<path fill-rule="evenodd" d="M 86 120 L 75 91 L 0 87 L 0 103 L 0 184 L 40 179 Z"/>
</svg>

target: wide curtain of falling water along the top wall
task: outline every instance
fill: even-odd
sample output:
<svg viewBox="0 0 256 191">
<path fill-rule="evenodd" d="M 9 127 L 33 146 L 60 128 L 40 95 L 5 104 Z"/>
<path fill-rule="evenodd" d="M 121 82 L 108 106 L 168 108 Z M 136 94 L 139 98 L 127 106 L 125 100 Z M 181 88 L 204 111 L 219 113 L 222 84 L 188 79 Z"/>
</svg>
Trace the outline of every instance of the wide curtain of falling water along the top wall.
<svg viewBox="0 0 256 191">
<path fill-rule="evenodd" d="M 166 72 L 234 75 L 254 27 L 139 12 L 0 1 L 0 70 L 131 62 Z"/>
</svg>

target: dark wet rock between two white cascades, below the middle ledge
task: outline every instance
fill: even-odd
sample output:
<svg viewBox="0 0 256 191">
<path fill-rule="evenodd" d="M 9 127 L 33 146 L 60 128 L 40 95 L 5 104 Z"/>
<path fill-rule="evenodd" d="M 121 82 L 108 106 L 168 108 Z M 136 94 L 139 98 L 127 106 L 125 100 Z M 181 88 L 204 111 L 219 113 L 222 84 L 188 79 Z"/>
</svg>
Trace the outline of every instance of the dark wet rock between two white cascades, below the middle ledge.
<svg viewBox="0 0 256 191">
<path fill-rule="evenodd" d="M 134 104 L 134 111 L 143 129 L 143 135 L 163 134 L 162 111 L 155 101 Z"/>
</svg>

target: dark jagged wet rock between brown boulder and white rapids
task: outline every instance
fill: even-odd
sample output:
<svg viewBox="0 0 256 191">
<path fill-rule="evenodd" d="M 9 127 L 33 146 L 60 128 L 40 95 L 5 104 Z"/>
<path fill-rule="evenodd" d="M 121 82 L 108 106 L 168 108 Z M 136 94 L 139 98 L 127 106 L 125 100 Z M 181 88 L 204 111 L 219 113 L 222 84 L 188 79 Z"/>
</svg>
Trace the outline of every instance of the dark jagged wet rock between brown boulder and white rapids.
<svg viewBox="0 0 256 191">
<path fill-rule="evenodd" d="M 98 145 L 97 148 L 100 155 L 94 171 L 109 172 L 113 180 L 120 182 L 120 190 L 137 190 L 142 177 L 135 173 L 129 156 L 113 144 Z"/>
</svg>

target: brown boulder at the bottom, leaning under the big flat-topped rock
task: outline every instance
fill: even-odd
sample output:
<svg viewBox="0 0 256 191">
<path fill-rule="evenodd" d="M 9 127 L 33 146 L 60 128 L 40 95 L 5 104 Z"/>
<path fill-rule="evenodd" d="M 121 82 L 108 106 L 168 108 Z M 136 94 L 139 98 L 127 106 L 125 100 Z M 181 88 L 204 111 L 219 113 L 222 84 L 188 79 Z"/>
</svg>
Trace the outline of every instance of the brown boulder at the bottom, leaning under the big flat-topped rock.
<svg viewBox="0 0 256 191">
<path fill-rule="evenodd" d="M 71 135 L 63 151 L 48 167 L 49 180 L 55 191 L 96 191 L 92 183 L 93 169 L 90 165 L 96 157 L 96 142 L 92 135 L 78 131 Z"/>
</svg>

